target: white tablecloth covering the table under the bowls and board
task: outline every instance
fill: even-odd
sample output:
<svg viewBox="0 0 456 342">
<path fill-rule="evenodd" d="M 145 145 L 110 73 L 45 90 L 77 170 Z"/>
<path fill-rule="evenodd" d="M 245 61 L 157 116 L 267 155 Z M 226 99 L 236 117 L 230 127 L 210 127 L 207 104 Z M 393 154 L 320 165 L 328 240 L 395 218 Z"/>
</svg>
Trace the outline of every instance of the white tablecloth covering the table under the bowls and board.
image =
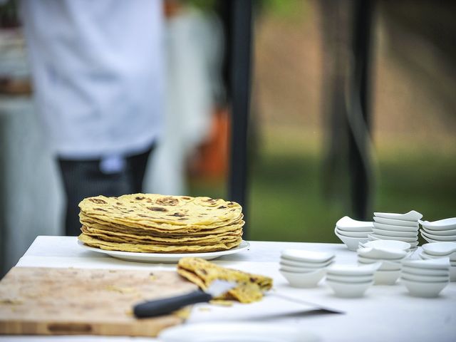
<svg viewBox="0 0 456 342">
<path fill-rule="evenodd" d="M 315 289 L 290 287 L 279 274 L 280 252 L 286 248 L 333 252 L 336 262 L 355 263 L 356 253 L 343 244 L 300 242 L 250 242 L 247 251 L 214 260 L 223 266 L 274 278 L 277 293 L 341 309 L 346 314 L 314 314 L 304 306 L 274 296 L 258 304 L 227 308 L 210 306 L 192 310 L 187 324 L 240 319 L 255 323 L 299 325 L 322 341 L 456 341 L 456 283 L 450 283 L 434 299 L 408 295 L 405 286 L 372 286 L 360 299 L 333 295 L 324 281 Z M 419 249 L 415 252 L 418 254 Z M 37 237 L 16 266 L 80 267 L 103 269 L 175 269 L 175 264 L 145 264 L 122 261 L 78 246 L 76 237 Z M 255 306 L 256 305 L 256 306 Z M 1 336 L 0 341 L 105 341 L 101 336 Z M 154 338 L 109 338 L 110 341 L 157 341 Z"/>
</svg>

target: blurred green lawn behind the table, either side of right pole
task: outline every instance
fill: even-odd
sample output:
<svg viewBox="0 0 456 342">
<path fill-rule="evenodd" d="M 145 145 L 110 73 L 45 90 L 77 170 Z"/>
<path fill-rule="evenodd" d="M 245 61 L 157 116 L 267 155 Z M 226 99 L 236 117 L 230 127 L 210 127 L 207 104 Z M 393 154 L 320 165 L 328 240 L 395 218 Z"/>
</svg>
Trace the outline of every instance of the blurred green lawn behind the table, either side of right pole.
<svg viewBox="0 0 456 342">
<path fill-rule="evenodd" d="M 302 135 L 302 133 L 301 133 Z M 266 133 L 252 158 L 247 239 L 340 242 L 336 221 L 351 216 L 347 193 L 323 197 L 318 139 Z M 380 148 L 373 211 L 418 210 L 425 219 L 456 216 L 455 153 L 437 148 Z M 192 182 L 192 195 L 226 197 L 224 182 Z"/>
</svg>

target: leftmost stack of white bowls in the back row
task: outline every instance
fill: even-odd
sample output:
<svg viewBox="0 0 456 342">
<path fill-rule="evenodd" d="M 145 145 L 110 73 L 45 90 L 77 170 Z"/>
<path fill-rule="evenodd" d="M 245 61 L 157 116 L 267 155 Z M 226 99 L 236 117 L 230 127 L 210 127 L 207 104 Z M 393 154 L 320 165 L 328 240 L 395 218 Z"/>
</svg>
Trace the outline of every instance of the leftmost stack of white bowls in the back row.
<svg viewBox="0 0 456 342">
<path fill-rule="evenodd" d="M 344 216 L 336 222 L 334 233 L 348 249 L 356 251 L 360 242 L 368 242 L 368 234 L 372 233 L 372 228 L 372 222 L 356 221 Z"/>
</svg>

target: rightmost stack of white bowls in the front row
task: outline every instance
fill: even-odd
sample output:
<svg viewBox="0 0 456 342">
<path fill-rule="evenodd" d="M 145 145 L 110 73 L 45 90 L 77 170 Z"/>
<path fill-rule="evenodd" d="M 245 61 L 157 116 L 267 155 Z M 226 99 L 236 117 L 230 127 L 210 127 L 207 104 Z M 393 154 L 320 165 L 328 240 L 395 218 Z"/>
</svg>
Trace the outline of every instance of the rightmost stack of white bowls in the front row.
<svg viewBox="0 0 456 342">
<path fill-rule="evenodd" d="M 450 259 L 404 260 L 400 281 L 412 296 L 436 297 L 450 282 Z"/>
</svg>

